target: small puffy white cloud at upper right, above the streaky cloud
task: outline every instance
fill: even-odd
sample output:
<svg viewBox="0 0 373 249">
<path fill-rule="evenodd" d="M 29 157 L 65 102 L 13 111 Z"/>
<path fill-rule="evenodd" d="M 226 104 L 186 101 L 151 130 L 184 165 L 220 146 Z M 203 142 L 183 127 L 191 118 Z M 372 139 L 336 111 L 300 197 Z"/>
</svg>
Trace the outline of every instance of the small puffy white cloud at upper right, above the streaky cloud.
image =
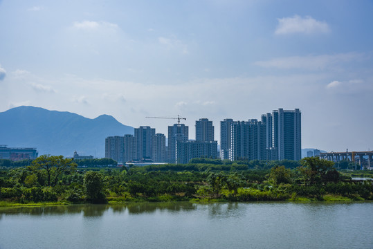
<svg viewBox="0 0 373 249">
<path fill-rule="evenodd" d="M 325 21 L 317 21 L 312 17 L 293 17 L 278 18 L 278 26 L 275 30 L 276 35 L 287 35 L 293 33 L 329 33 L 329 26 Z"/>
</svg>

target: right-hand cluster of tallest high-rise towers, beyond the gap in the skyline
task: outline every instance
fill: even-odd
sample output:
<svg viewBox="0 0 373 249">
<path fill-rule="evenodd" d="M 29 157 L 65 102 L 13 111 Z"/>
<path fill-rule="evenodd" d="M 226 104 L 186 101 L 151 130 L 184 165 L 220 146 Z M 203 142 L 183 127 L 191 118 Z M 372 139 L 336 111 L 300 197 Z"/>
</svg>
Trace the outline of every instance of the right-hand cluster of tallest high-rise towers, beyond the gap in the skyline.
<svg viewBox="0 0 373 249">
<path fill-rule="evenodd" d="M 228 150 L 230 160 L 300 160 L 300 118 L 299 109 L 278 109 L 263 114 L 260 121 L 221 121 L 221 158 Z"/>
</svg>

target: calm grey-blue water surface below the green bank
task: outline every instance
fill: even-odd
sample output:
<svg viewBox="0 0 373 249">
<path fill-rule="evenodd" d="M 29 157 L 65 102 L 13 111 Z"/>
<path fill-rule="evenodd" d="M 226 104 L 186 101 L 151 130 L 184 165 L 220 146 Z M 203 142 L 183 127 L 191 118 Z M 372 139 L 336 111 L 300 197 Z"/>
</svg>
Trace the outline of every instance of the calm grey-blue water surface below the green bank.
<svg viewBox="0 0 373 249">
<path fill-rule="evenodd" d="M 373 248 L 373 203 L 0 208 L 0 248 Z"/>
</svg>

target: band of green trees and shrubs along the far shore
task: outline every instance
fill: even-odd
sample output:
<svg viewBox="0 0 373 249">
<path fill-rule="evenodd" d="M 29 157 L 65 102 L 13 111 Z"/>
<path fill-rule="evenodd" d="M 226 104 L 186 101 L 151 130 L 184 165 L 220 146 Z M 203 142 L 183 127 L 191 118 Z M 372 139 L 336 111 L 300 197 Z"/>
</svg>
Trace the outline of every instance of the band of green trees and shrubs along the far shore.
<svg viewBox="0 0 373 249">
<path fill-rule="evenodd" d="M 83 163 L 44 155 L 27 165 L 18 164 L 4 166 L 4 160 L 0 160 L 0 207 L 173 201 L 373 201 L 371 181 L 351 180 L 352 176 L 372 178 L 373 172 L 337 171 L 334 163 L 318 157 L 299 162 L 194 158 L 186 165 L 118 168 L 78 167 Z"/>
</svg>

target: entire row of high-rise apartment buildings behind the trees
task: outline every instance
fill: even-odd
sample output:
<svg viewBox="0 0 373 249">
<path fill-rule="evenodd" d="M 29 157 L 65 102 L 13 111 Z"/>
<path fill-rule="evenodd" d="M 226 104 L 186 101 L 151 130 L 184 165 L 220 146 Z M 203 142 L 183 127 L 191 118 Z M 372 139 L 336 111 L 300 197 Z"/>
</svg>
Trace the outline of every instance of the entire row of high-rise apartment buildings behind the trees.
<svg viewBox="0 0 373 249">
<path fill-rule="evenodd" d="M 105 156 L 118 162 L 148 161 L 156 163 L 188 163 L 192 158 L 208 157 L 229 160 L 300 160 L 301 112 L 299 109 L 273 110 L 261 120 L 221 121 L 221 147 L 215 140 L 215 127 L 208 118 L 195 122 L 195 140 L 189 140 L 185 124 L 168 126 L 168 138 L 149 126 L 134 129 L 134 136 L 122 137 L 123 145 L 113 152 L 116 142 L 105 142 Z M 125 140 L 127 138 L 127 140 Z M 111 154 L 110 154 L 111 153 Z M 118 154 L 123 154 L 122 157 Z M 110 157 L 113 155 L 113 157 Z M 124 156 L 126 155 L 126 156 Z M 116 159 L 114 159 L 116 160 Z"/>
</svg>

